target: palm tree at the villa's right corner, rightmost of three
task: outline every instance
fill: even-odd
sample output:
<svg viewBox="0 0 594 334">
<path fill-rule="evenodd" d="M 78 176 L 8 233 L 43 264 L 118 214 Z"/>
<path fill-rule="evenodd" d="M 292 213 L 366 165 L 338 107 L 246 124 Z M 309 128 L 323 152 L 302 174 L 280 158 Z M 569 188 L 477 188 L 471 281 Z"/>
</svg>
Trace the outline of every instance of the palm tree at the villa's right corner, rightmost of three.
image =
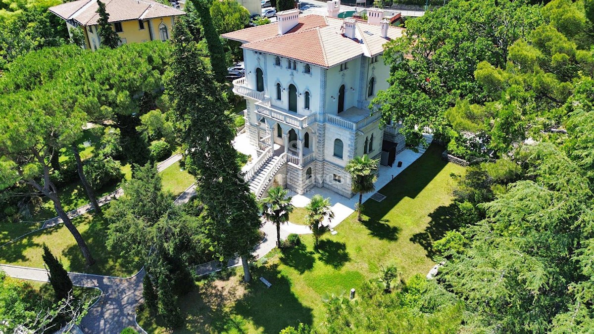
<svg viewBox="0 0 594 334">
<path fill-rule="evenodd" d="M 374 160 L 363 155 L 356 156 L 349 160 L 345 169 L 350 174 L 350 182 L 353 193 L 359 193 L 359 204 L 357 205 L 357 220 L 361 222 L 361 212 L 363 211 L 362 201 L 364 193 L 371 193 L 375 190 L 375 181 L 377 181 L 377 164 L 379 160 Z"/>
</svg>

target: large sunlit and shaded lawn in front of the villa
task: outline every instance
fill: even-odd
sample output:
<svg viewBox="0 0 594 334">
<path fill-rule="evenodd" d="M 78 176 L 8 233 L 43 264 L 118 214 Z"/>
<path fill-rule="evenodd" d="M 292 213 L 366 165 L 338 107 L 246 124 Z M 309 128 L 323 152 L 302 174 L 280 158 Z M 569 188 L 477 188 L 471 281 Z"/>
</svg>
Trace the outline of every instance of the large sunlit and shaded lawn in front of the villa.
<svg viewBox="0 0 594 334">
<path fill-rule="evenodd" d="M 464 171 L 441 160 L 441 152 L 443 147 L 429 147 L 380 190 L 384 201 L 365 203 L 362 223 L 353 213 L 335 228 L 338 234 L 321 238 L 318 252 L 305 235 L 300 247 L 275 250 L 258 261 L 251 283 L 240 282 L 241 268 L 198 282 L 194 292 L 180 298 L 187 323 L 176 332 L 278 333 L 298 322 L 315 327 L 326 317 L 324 294 L 359 289 L 381 266 L 396 264 L 405 281 L 425 276 L 435 264 L 432 242 L 455 227 L 449 216 L 450 174 Z M 266 288 L 260 276 L 273 286 Z M 147 311 L 138 321 L 149 332 L 165 332 Z"/>
</svg>

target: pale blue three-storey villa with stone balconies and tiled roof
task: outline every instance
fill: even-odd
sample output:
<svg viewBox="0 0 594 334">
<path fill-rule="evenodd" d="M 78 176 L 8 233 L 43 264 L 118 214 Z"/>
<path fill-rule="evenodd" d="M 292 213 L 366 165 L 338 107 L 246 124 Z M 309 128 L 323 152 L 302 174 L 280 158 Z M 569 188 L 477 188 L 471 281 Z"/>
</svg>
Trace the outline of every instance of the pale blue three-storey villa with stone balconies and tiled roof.
<svg viewBox="0 0 594 334">
<path fill-rule="evenodd" d="M 274 182 L 350 198 L 350 159 L 367 154 L 388 164 L 404 149 L 397 127 L 380 128 L 381 114 L 368 106 L 388 88 L 383 45 L 405 30 L 390 26 L 383 10 L 369 8 L 363 21 L 337 18 L 339 8 L 335 0 L 327 16 L 287 10 L 277 23 L 223 34 L 244 50 L 245 77 L 233 81 L 233 92 L 247 101 L 258 157 L 245 178 L 258 198 Z"/>
</svg>

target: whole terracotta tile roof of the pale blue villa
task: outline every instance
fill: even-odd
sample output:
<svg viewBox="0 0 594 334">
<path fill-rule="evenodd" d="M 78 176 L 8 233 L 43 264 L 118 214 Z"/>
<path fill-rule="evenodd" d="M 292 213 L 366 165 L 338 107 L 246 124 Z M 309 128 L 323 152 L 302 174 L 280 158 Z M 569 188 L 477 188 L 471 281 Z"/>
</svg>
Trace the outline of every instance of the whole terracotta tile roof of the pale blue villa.
<svg viewBox="0 0 594 334">
<path fill-rule="evenodd" d="M 321 21 L 326 24 L 319 24 Z M 343 35 L 342 24 L 339 18 L 307 15 L 299 17 L 299 25 L 283 35 L 278 34 L 276 24 L 266 24 L 223 34 L 223 37 L 246 42 L 242 45 L 244 49 L 329 68 L 358 56 L 378 55 L 384 51 L 385 43 L 402 37 L 405 31 L 389 27 L 388 38 L 383 38 L 379 25 L 358 21 L 355 38 L 350 39 Z"/>
</svg>

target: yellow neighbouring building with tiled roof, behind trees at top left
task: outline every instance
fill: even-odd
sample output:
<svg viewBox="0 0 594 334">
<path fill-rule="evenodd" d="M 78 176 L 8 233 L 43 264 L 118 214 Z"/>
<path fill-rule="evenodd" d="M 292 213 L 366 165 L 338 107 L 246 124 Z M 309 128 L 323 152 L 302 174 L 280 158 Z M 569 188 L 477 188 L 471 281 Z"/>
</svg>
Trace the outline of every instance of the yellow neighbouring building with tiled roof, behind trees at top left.
<svg viewBox="0 0 594 334">
<path fill-rule="evenodd" d="M 173 20 L 185 15 L 184 11 L 151 0 L 102 0 L 109 14 L 109 23 L 118 33 L 122 44 L 149 40 L 168 40 Z M 99 14 L 97 0 L 77 0 L 50 7 L 49 11 L 66 21 L 68 31 L 82 27 L 86 49 L 96 50 L 101 45 L 97 31 Z"/>
</svg>

